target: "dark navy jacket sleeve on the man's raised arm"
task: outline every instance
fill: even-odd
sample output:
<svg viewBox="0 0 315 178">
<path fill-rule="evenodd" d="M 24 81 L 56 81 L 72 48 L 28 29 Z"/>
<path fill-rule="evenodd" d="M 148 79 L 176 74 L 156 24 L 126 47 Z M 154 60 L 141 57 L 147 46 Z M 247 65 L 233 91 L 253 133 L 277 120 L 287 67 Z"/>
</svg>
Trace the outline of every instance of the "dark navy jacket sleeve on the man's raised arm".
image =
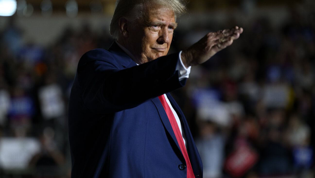
<svg viewBox="0 0 315 178">
<path fill-rule="evenodd" d="M 175 70 L 178 55 L 125 67 L 107 50 L 87 52 L 76 77 L 84 105 L 94 113 L 118 112 L 183 86 L 186 79 L 179 81 Z"/>
</svg>

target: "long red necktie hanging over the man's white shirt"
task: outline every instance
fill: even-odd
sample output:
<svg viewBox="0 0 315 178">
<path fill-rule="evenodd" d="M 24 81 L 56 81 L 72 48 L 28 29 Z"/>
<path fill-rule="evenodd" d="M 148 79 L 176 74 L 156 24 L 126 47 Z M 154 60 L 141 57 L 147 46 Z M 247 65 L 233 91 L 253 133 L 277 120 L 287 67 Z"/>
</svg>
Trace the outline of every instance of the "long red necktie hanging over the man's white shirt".
<svg viewBox="0 0 315 178">
<path fill-rule="evenodd" d="M 186 164 L 187 164 L 186 165 L 186 167 L 187 167 L 187 178 L 195 178 L 194 172 L 192 170 L 192 165 L 190 164 L 190 160 L 189 160 L 188 153 L 187 153 L 187 150 L 186 150 L 186 146 L 184 144 L 183 137 L 182 137 L 182 135 L 180 133 L 180 130 L 179 130 L 178 124 L 176 122 L 176 119 L 174 117 L 174 114 L 173 114 L 171 108 L 169 107 L 169 104 L 165 100 L 164 95 L 161 95 L 158 98 L 160 99 L 160 101 L 161 101 L 161 103 L 162 103 L 162 105 L 163 105 L 163 107 L 165 109 L 165 112 L 166 112 L 167 116 L 169 117 L 169 122 L 172 125 L 174 134 L 176 136 L 176 140 L 178 142 L 178 145 L 180 147 L 181 152 L 184 155 L 184 158 L 185 158 L 185 161 L 186 161 Z"/>
</svg>

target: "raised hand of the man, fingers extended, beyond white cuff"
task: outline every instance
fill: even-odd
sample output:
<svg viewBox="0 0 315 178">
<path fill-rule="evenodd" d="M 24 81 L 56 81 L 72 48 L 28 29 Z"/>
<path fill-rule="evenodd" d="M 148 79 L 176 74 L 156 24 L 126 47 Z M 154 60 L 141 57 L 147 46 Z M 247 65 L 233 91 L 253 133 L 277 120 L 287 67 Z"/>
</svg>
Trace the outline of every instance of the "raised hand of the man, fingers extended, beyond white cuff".
<svg viewBox="0 0 315 178">
<path fill-rule="evenodd" d="M 210 32 L 197 43 L 183 50 L 180 57 L 186 67 L 202 64 L 215 53 L 230 46 L 233 40 L 238 39 L 242 32 L 243 28 L 238 28 L 238 26 L 218 32 Z"/>
</svg>

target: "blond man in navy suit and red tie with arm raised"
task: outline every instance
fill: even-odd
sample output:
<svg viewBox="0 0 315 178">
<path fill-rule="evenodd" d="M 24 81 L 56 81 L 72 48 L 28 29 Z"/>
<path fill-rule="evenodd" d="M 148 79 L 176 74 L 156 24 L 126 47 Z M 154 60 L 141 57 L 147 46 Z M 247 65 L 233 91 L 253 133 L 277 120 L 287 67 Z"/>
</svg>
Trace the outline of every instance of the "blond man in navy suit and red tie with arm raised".
<svg viewBox="0 0 315 178">
<path fill-rule="evenodd" d="M 84 54 L 72 86 L 72 177 L 202 177 L 186 119 L 168 92 L 243 29 L 209 33 L 166 55 L 185 9 L 182 0 L 117 1 L 110 26 L 117 41 Z"/>
</svg>

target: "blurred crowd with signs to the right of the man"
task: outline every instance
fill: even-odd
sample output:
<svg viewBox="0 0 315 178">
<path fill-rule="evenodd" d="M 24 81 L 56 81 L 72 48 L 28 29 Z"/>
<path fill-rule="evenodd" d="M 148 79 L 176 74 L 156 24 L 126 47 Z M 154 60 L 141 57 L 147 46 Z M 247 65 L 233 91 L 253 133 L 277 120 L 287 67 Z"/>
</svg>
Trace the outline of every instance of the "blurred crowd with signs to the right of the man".
<svg viewBox="0 0 315 178">
<path fill-rule="evenodd" d="M 186 87 L 174 92 L 206 178 L 314 177 L 315 11 L 292 8 L 288 21 L 271 21 L 231 19 L 175 34 L 182 48 L 217 26 L 244 28 L 232 46 L 193 67 Z"/>
</svg>

